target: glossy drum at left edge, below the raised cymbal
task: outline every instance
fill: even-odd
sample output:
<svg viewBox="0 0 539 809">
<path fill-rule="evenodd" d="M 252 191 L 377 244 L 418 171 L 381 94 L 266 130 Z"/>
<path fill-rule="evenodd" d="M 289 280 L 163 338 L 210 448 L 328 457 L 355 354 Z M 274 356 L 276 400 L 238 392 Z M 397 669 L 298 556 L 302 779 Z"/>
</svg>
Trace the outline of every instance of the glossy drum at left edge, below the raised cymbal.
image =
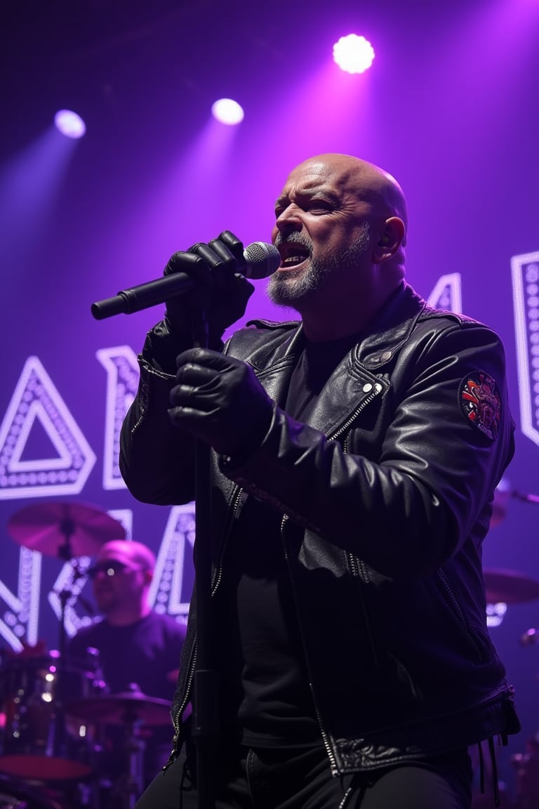
<svg viewBox="0 0 539 809">
<path fill-rule="evenodd" d="M 51 652 L 13 658 L 0 667 L 0 704 L 5 716 L 0 773 L 25 781 L 62 781 L 91 775 L 86 728 L 65 718 L 63 705 L 95 696 L 104 684 L 97 667 Z"/>
</svg>

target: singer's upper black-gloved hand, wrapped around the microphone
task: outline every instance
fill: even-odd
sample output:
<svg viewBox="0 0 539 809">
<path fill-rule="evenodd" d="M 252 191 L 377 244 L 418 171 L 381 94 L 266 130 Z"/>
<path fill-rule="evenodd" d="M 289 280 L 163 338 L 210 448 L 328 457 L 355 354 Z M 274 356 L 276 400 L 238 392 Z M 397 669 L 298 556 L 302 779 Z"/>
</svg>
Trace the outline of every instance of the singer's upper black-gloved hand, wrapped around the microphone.
<svg viewBox="0 0 539 809">
<path fill-rule="evenodd" d="M 193 335 L 200 334 L 201 312 L 205 308 L 208 345 L 218 348 L 223 332 L 244 314 L 255 291 L 239 272 L 244 264 L 242 242 L 230 231 L 223 231 L 209 244 L 194 244 L 187 252 L 174 253 L 163 274 L 187 273 L 198 283 L 195 289 L 166 301 L 169 331 L 192 344 Z"/>
</svg>

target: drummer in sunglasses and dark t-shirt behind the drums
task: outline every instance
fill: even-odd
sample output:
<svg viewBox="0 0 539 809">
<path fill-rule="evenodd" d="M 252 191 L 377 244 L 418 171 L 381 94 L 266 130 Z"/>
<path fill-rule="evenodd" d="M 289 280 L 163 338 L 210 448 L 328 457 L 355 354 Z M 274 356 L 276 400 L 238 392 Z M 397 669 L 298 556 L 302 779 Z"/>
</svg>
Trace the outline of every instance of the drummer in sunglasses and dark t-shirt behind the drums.
<svg viewBox="0 0 539 809">
<path fill-rule="evenodd" d="M 103 544 L 87 570 L 101 616 L 78 631 L 67 652 L 84 659 L 88 648 L 97 649 L 109 693 L 124 693 L 137 684 L 147 697 L 171 700 L 185 625 L 150 607 L 148 596 L 154 569 L 154 553 L 145 544 L 131 540 Z M 116 773 L 112 773 L 116 777 L 124 769 L 125 761 L 117 731 L 117 727 L 107 728 L 104 744 L 110 749 L 103 756 L 109 770 L 112 759 L 116 760 L 113 768 Z M 144 786 L 154 776 L 156 764 L 166 760 L 172 735 L 171 725 L 152 729 L 151 738 L 146 739 L 148 775 L 144 776 Z"/>
</svg>

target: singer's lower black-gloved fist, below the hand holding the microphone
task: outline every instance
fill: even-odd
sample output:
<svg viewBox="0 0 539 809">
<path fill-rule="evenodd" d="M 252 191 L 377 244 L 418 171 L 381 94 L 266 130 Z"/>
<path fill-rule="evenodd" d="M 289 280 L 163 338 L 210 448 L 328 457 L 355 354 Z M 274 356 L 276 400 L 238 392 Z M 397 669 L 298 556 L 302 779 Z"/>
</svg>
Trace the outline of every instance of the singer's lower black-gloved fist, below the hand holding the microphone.
<svg viewBox="0 0 539 809">
<path fill-rule="evenodd" d="M 273 402 L 246 362 L 209 349 L 189 349 L 176 359 L 171 390 L 173 424 L 221 455 L 238 455 L 262 443 Z"/>
</svg>

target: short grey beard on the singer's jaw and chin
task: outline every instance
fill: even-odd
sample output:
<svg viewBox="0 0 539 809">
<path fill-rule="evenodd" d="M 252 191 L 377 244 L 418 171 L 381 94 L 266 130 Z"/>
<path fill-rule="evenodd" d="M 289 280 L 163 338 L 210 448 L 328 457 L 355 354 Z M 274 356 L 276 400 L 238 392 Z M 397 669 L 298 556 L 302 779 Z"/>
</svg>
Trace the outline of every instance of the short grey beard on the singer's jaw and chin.
<svg viewBox="0 0 539 809">
<path fill-rule="evenodd" d="M 293 269 L 283 273 L 273 273 L 267 283 L 267 297 L 277 306 L 297 309 L 298 304 L 310 299 L 323 290 L 326 277 L 338 273 L 343 266 L 360 263 L 368 251 L 368 222 L 364 222 L 360 235 L 346 250 L 332 256 L 312 259 L 310 268 L 299 277 L 293 276 Z M 296 239 L 299 240 L 299 239 Z"/>
</svg>

